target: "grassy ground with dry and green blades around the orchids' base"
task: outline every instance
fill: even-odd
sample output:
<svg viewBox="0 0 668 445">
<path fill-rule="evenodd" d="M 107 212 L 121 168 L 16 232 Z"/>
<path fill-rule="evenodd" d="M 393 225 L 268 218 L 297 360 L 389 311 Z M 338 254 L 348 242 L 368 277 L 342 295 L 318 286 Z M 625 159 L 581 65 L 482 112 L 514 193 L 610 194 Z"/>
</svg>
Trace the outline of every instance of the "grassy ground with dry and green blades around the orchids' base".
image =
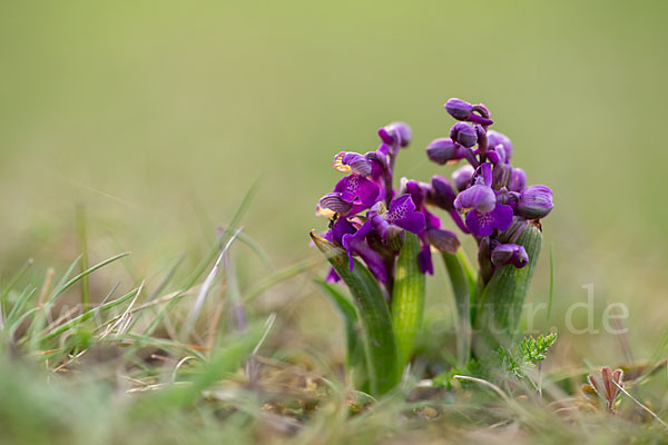
<svg viewBox="0 0 668 445">
<path fill-rule="evenodd" d="M 35 264 L 27 261 L 0 289 L 0 441 L 665 441 L 665 414 L 657 408 L 662 395 L 645 389 L 660 378 L 664 362 L 627 370 L 616 414 L 609 415 L 598 398 L 569 389 L 569 382 L 583 383 L 590 369 L 538 376 L 533 364 L 550 360 L 551 337 L 508 349 L 507 367 L 487 376 L 474 365 L 458 368 L 455 360 L 439 378 L 429 378 L 431 358 L 419 350 L 399 387 L 382 397 L 355 389 L 358 376 L 343 373 L 335 356 L 294 346 L 284 322 L 289 314 L 281 308 L 276 314 L 258 298 L 267 291 L 294 298 L 303 281 L 293 278 L 306 274 L 312 279 L 322 259 L 267 267 L 248 285 L 235 283 L 230 266 L 237 266 L 234 250 L 240 243 L 267 263 L 239 228 L 243 214 L 181 281 L 175 269 L 183 267 L 179 260 L 163 277 L 141 278 L 127 288 L 79 286 L 88 277 L 104 283 L 121 259 L 131 258 L 129 253 L 88 267 L 79 257 L 65 273 L 49 269 L 45 277 L 31 275 Z M 323 281 L 318 286 L 338 301 L 347 314 L 346 332 L 356 335 L 350 296 Z M 89 306 L 69 298 L 77 289 L 89 293 Z M 244 323 L 238 323 L 239 310 Z M 307 345 L 310 338 L 301 340 Z M 348 353 L 348 363 L 360 359 L 354 348 Z"/>
</svg>

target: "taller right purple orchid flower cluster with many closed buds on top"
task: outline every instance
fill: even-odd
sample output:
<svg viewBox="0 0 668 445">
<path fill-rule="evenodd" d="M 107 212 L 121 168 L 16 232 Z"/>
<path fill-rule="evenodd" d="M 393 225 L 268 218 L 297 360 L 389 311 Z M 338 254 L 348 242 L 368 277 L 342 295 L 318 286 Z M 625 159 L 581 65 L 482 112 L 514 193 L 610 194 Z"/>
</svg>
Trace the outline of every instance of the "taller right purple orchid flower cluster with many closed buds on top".
<svg viewBox="0 0 668 445">
<path fill-rule="evenodd" d="M 459 122 L 450 129 L 450 137 L 433 140 L 426 155 L 439 165 L 455 165 L 462 159 L 466 164 L 452 174 L 452 185 L 434 176 L 432 187 L 443 190 L 436 205 L 452 215 L 463 233 L 475 237 L 485 284 L 499 266 L 527 266 L 529 256 L 515 241 L 530 221 L 539 225 L 550 214 L 552 190 L 542 185 L 527 187 L 524 171 L 510 164 L 512 142 L 489 129 L 493 121 L 487 107 L 450 99 L 445 110 Z M 450 199 L 453 188 L 458 194 Z"/>
</svg>

